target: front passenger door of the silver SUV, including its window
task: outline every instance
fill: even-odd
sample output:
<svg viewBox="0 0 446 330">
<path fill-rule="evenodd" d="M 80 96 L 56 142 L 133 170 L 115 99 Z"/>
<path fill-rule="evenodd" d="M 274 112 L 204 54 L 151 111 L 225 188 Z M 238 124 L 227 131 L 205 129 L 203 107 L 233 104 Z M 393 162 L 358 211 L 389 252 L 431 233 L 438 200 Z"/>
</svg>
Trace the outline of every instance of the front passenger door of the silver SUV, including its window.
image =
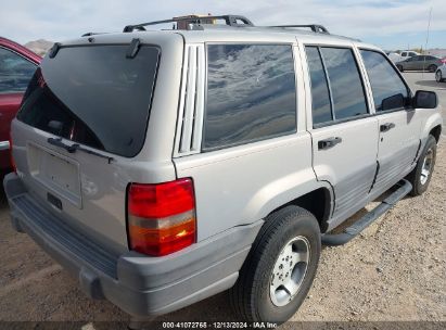
<svg viewBox="0 0 446 330">
<path fill-rule="evenodd" d="M 383 53 L 360 50 L 380 125 L 379 170 L 373 192 L 381 193 L 411 169 L 420 148 L 421 118 L 410 107 L 410 90 Z"/>
</svg>

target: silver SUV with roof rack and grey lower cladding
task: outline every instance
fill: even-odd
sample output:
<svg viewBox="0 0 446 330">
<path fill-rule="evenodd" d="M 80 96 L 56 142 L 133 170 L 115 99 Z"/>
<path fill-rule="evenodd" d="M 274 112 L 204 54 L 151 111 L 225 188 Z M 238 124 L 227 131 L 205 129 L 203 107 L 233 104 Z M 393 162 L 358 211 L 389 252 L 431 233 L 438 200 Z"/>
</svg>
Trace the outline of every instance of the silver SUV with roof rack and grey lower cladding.
<svg viewBox="0 0 446 330">
<path fill-rule="evenodd" d="M 132 316 L 230 289 L 241 319 L 285 321 L 321 244 L 428 189 L 436 94 L 319 25 L 161 23 L 177 26 L 87 34 L 46 56 L 12 124 L 12 224 Z"/>
</svg>

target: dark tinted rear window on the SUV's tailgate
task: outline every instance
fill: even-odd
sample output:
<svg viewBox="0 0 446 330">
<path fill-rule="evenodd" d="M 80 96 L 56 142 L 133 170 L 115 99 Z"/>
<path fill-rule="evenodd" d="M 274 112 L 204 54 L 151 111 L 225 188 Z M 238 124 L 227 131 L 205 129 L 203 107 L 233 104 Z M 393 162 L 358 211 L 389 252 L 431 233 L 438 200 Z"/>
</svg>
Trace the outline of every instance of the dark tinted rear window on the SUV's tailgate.
<svg viewBox="0 0 446 330">
<path fill-rule="evenodd" d="M 46 59 L 25 93 L 17 119 L 122 156 L 141 150 L 161 51 L 128 45 L 61 48 Z"/>
</svg>

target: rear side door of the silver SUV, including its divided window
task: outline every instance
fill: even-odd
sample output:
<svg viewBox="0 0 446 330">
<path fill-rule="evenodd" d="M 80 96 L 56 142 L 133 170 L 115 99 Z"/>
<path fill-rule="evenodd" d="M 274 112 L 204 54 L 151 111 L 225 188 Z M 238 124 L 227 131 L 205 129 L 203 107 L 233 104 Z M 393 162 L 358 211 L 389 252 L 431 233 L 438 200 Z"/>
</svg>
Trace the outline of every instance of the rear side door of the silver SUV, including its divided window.
<svg viewBox="0 0 446 330">
<path fill-rule="evenodd" d="M 332 226 L 366 204 L 377 170 L 378 119 L 370 115 L 355 53 L 305 48 L 311 91 L 313 166 L 333 187 Z"/>
</svg>

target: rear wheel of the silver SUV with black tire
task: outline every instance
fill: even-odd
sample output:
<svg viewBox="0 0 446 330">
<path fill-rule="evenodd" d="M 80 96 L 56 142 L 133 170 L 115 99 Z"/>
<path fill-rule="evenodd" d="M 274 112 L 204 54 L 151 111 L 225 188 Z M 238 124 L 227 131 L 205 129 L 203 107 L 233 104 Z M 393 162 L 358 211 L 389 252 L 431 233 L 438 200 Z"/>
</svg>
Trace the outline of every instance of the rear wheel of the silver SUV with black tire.
<svg viewBox="0 0 446 330">
<path fill-rule="evenodd" d="M 283 250 L 285 246 L 289 249 Z M 292 249 L 302 253 L 292 252 L 293 256 L 286 258 L 288 251 Z M 320 250 L 319 225 L 308 211 L 286 206 L 269 215 L 240 270 L 235 285 L 229 291 L 235 314 L 245 321 L 286 321 L 298 309 L 311 287 Z M 304 262 L 297 262 L 296 255 Z M 294 287 L 291 288 L 296 289 L 294 294 L 290 294 L 284 285 L 278 285 L 282 280 L 286 283 L 293 281 Z M 275 288 L 278 288 L 277 291 Z"/>
</svg>

